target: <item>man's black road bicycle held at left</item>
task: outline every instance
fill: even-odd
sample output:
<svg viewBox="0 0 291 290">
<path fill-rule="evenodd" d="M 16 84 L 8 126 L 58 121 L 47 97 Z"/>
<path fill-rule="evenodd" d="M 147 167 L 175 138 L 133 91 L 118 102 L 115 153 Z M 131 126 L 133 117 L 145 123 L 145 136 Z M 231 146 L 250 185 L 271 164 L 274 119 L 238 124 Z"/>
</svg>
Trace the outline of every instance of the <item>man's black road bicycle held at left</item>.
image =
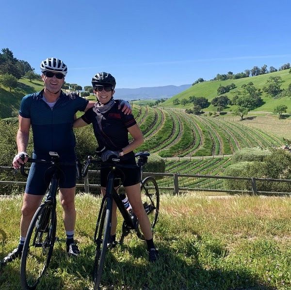
<svg viewBox="0 0 291 290">
<path fill-rule="evenodd" d="M 63 172 L 60 166 L 76 166 L 76 162 L 60 162 L 56 152 L 49 152 L 49 155 L 51 160 L 29 158 L 27 161 L 49 164 L 54 172 L 46 197 L 33 215 L 25 238 L 20 262 L 20 282 L 23 289 L 35 289 L 40 278 L 47 272 L 56 240 L 56 195 Z M 24 160 L 24 155 L 21 158 Z M 77 167 L 77 173 L 79 170 Z M 23 176 L 28 176 L 24 171 L 24 164 L 20 172 Z"/>
</svg>

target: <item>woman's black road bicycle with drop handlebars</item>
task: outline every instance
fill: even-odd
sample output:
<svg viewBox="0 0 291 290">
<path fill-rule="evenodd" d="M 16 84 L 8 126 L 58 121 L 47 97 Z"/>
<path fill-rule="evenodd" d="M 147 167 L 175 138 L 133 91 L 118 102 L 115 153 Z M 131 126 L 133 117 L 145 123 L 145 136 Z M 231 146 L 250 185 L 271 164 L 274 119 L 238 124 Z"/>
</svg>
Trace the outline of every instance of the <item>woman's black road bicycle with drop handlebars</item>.
<svg viewBox="0 0 291 290">
<path fill-rule="evenodd" d="M 143 166 L 147 162 L 148 152 L 136 153 L 137 165 L 123 165 L 118 164 L 120 159 L 112 158 L 112 163 L 104 163 L 101 160 L 93 159 L 92 156 L 88 156 L 87 162 L 82 170 L 82 175 L 87 174 L 90 164 L 101 164 L 110 168 L 110 173 L 107 177 L 106 193 L 101 201 L 100 211 L 97 218 L 96 229 L 94 234 L 94 242 L 96 243 L 96 254 L 94 261 L 94 289 L 99 289 L 101 276 L 103 272 L 105 255 L 107 247 L 109 246 L 109 238 L 111 235 L 111 218 L 112 218 L 112 204 L 115 201 L 117 208 L 119 209 L 124 221 L 122 225 L 122 235 L 119 244 L 122 244 L 124 238 L 129 234 L 131 230 L 134 230 L 138 238 L 145 240 L 145 237 L 139 227 L 138 219 L 135 214 L 130 210 L 128 211 L 118 193 L 114 189 L 114 179 L 116 178 L 116 172 L 122 172 L 122 168 L 135 168 L 140 170 L 141 177 L 143 174 Z M 148 176 L 141 182 L 141 195 L 143 205 L 146 214 L 149 217 L 151 228 L 155 227 L 159 214 L 160 194 L 156 180 Z"/>
</svg>

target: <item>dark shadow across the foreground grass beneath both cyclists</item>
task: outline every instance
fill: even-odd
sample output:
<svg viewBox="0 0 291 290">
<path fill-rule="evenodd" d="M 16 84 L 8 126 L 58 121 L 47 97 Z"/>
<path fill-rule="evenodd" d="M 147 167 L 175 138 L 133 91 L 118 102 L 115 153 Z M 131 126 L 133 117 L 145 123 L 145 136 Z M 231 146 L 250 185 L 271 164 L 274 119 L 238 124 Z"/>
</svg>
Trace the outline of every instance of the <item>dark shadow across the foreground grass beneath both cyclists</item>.
<svg viewBox="0 0 291 290">
<path fill-rule="evenodd" d="M 225 258 L 228 255 L 220 246 L 210 245 L 206 250 L 213 257 Z M 274 290 L 242 265 L 240 270 L 225 270 L 219 266 L 210 268 L 210 263 L 200 264 L 201 252 L 202 249 L 192 243 L 184 244 L 180 251 L 160 245 L 158 261 L 150 263 L 146 244 L 118 245 L 106 253 L 101 289 Z M 41 279 L 38 289 L 69 289 L 73 285 L 76 285 L 74 289 L 92 289 L 94 257 L 93 243 L 82 248 L 79 257 L 67 257 L 65 244 L 56 243 L 48 275 Z M 19 289 L 19 272 L 16 269 L 19 269 L 18 265 L 11 268 L 8 264 L 0 270 L 1 290 Z"/>
</svg>

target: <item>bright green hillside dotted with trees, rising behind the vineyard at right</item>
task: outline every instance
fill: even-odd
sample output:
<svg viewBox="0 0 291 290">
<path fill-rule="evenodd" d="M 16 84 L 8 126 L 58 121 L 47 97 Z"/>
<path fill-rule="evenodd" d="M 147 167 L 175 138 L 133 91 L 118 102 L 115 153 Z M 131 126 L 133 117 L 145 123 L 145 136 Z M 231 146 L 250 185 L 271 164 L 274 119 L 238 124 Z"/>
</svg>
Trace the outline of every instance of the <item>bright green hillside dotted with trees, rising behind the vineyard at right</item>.
<svg viewBox="0 0 291 290">
<path fill-rule="evenodd" d="M 281 89 L 287 89 L 289 84 L 291 83 L 291 74 L 289 74 L 289 69 L 278 71 L 275 73 L 269 73 L 265 75 L 260 76 L 252 76 L 252 77 L 244 77 L 240 79 L 227 79 L 224 81 L 218 81 L 218 80 L 210 80 L 210 81 L 204 81 L 202 83 L 195 84 L 188 90 L 178 93 L 177 95 L 173 96 L 172 98 L 166 100 L 162 104 L 160 104 L 160 107 L 175 107 L 175 108 L 192 108 L 193 104 L 187 104 L 185 106 L 179 104 L 179 105 L 173 105 L 173 100 L 178 98 L 179 100 L 185 98 L 189 99 L 190 96 L 195 97 L 205 97 L 211 102 L 211 100 L 214 97 L 217 97 L 217 89 L 221 86 L 230 85 L 231 83 L 234 83 L 237 88 L 234 90 L 231 90 L 228 93 L 224 93 L 229 99 L 232 99 L 235 95 L 235 92 L 237 90 L 241 90 L 241 87 L 243 84 L 247 84 L 249 82 L 253 82 L 254 86 L 259 89 L 263 89 L 264 86 L 267 86 L 267 80 L 270 76 L 281 76 L 282 80 L 284 81 L 281 85 Z M 273 111 L 273 108 L 277 105 L 284 104 L 288 106 L 288 111 L 291 111 L 291 99 L 288 97 L 283 97 L 280 99 L 274 99 L 268 96 L 265 92 L 262 93 L 261 98 L 263 102 L 265 103 L 261 107 L 256 108 L 254 111 L 266 111 L 270 112 Z M 234 106 L 227 107 L 224 111 L 229 111 L 233 109 Z M 210 105 L 206 109 L 203 109 L 204 111 L 214 111 L 215 107 Z"/>
</svg>

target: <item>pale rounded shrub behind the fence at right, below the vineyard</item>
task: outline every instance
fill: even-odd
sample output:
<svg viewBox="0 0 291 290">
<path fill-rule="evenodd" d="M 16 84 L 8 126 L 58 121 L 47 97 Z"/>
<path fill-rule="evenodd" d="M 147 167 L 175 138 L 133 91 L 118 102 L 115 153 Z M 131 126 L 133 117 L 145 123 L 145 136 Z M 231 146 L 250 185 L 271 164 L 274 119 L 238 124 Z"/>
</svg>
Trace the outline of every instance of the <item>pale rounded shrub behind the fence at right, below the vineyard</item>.
<svg viewBox="0 0 291 290">
<path fill-rule="evenodd" d="M 271 152 L 268 149 L 255 148 L 243 148 L 233 154 L 232 163 L 242 161 L 263 161 L 267 155 Z"/>
</svg>

